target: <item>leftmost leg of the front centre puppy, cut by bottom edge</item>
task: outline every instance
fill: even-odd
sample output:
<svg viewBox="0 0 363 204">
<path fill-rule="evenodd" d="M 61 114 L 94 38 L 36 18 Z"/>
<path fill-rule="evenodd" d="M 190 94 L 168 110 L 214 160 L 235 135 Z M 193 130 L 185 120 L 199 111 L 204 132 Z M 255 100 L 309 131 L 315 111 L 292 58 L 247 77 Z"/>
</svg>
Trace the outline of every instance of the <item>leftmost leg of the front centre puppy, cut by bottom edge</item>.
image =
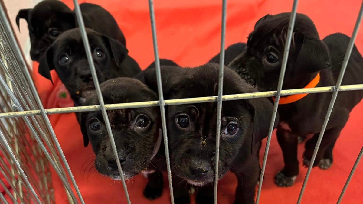
<svg viewBox="0 0 363 204">
<path fill-rule="evenodd" d="M 175 204 L 189 204 L 190 195 L 187 189 L 187 183 L 183 179 L 176 175 L 172 177 L 173 191 L 174 191 L 174 203 Z"/>
</svg>

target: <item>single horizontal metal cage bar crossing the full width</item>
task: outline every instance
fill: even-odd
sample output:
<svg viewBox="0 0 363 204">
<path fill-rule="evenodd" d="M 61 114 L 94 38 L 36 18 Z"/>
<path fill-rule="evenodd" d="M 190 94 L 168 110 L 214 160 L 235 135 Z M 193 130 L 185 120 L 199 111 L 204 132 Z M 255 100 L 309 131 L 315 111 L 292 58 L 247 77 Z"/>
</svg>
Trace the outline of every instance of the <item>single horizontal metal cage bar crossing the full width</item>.
<svg viewBox="0 0 363 204">
<path fill-rule="evenodd" d="M 281 95 L 293 95 L 293 94 L 307 94 L 307 93 L 327 93 L 333 92 L 335 90 L 335 86 L 323 86 L 309 89 L 288 89 L 282 90 Z M 343 85 L 340 86 L 339 91 L 355 91 L 355 90 L 363 90 L 363 84 L 356 85 Z M 233 101 L 240 99 L 249 99 L 249 98 L 264 98 L 264 97 L 272 97 L 276 95 L 276 91 L 262 91 L 255 93 L 244 93 L 244 94 L 231 94 L 231 95 L 223 95 L 223 101 Z M 196 97 L 196 98 L 181 98 L 181 99 L 170 99 L 165 100 L 166 106 L 173 105 L 182 105 L 182 104 L 191 104 L 191 103 L 206 103 L 206 102 L 215 102 L 217 101 L 217 96 L 209 96 L 209 97 Z M 145 101 L 145 102 L 133 102 L 133 103 L 114 103 L 114 104 L 106 104 L 106 110 L 116 110 L 116 109 L 130 109 L 130 108 L 140 108 L 140 107 L 153 107 L 159 106 L 159 101 Z M 77 106 L 77 107 L 65 107 L 65 108 L 53 108 L 53 109 L 45 109 L 46 114 L 58 114 L 58 113 L 77 113 L 77 112 L 85 112 L 85 111 L 99 111 L 100 105 L 94 106 Z M 14 111 L 8 113 L 0 113 L 0 118 L 13 118 L 13 117 L 22 117 L 22 116 L 31 116 L 31 115 L 40 115 L 40 110 L 26 110 L 26 111 Z"/>
</svg>

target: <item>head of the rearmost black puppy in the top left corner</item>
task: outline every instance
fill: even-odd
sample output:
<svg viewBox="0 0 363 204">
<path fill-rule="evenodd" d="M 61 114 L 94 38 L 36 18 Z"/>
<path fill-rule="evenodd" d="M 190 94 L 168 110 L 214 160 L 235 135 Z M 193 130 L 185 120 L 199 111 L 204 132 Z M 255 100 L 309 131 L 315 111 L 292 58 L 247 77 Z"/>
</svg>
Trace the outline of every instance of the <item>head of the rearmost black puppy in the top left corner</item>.
<svg viewBox="0 0 363 204">
<path fill-rule="evenodd" d="M 18 28 L 20 19 L 25 19 L 28 23 L 32 44 L 30 57 L 34 61 L 39 60 L 45 50 L 62 32 L 76 27 L 73 11 L 58 0 L 45 0 L 33 9 L 21 9 L 16 16 Z"/>
</svg>

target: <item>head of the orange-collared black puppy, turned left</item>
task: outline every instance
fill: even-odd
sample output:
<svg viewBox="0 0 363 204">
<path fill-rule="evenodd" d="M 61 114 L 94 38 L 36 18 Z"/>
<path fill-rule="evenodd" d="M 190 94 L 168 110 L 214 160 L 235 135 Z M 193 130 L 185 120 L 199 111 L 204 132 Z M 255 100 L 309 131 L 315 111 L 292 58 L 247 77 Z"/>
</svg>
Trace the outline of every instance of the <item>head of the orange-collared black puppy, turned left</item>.
<svg viewBox="0 0 363 204">
<path fill-rule="evenodd" d="M 289 20 L 290 13 L 266 15 L 258 20 L 246 49 L 228 67 L 261 90 L 276 90 Z M 314 73 L 330 63 L 329 50 L 320 40 L 313 21 L 297 13 L 283 88 L 305 86 Z"/>
</svg>

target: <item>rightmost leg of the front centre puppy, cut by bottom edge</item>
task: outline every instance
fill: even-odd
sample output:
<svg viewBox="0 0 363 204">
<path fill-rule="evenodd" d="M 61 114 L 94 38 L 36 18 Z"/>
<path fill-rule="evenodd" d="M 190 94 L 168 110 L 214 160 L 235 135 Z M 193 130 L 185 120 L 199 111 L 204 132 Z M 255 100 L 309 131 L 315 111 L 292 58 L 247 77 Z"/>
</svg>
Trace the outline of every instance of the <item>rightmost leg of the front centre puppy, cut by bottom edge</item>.
<svg viewBox="0 0 363 204">
<path fill-rule="evenodd" d="M 254 196 L 258 178 L 260 177 L 260 163 L 257 157 L 251 158 L 244 168 L 234 172 L 237 176 L 236 200 L 234 204 L 254 204 Z"/>
</svg>

